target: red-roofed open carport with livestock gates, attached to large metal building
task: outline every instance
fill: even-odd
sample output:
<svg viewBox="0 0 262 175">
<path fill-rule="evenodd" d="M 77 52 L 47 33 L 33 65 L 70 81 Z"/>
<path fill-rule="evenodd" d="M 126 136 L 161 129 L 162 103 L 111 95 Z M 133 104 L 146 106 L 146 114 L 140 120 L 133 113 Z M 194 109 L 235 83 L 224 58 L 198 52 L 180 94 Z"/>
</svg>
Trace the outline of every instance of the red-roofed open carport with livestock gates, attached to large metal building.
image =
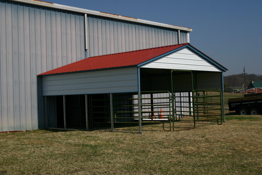
<svg viewBox="0 0 262 175">
<path fill-rule="evenodd" d="M 114 123 L 137 122 L 141 133 L 142 121 L 153 121 L 171 131 L 182 115 L 221 124 L 226 70 L 189 43 L 89 57 L 38 75 L 45 126 L 109 122 L 114 131 Z"/>
</svg>

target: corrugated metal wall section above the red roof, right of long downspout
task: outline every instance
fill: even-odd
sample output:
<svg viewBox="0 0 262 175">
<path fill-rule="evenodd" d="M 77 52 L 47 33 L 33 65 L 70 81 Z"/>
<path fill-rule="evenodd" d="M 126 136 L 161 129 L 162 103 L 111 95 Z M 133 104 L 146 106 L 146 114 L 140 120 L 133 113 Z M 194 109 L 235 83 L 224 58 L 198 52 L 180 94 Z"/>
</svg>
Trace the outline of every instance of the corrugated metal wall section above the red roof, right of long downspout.
<svg viewBox="0 0 262 175">
<path fill-rule="evenodd" d="M 178 44 L 178 30 L 87 15 L 87 57 Z M 181 43 L 187 32 L 180 31 Z"/>
</svg>

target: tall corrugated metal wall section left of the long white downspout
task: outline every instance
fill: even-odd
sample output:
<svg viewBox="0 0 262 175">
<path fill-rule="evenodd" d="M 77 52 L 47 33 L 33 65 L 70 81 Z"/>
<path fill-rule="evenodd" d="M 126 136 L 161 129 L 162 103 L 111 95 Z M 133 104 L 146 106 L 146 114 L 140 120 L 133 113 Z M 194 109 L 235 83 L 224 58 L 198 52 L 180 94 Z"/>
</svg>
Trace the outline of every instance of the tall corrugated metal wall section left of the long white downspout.
<svg viewBox="0 0 262 175">
<path fill-rule="evenodd" d="M 37 74 L 85 58 L 84 15 L 0 0 L 0 23 L 0 131 L 37 129 Z"/>
</svg>

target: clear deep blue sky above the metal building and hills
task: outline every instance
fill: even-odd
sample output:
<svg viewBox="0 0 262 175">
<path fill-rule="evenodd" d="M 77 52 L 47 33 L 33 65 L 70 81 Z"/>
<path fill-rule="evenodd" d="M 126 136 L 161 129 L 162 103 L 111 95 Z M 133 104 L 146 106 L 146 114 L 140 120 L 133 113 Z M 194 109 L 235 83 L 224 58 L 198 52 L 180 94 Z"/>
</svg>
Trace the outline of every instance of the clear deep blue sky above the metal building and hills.
<svg viewBox="0 0 262 175">
<path fill-rule="evenodd" d="M 193 29 L 190 44 L 229 69 L 262 75 L 261 0 L 46 0 Z"/>
</svg>

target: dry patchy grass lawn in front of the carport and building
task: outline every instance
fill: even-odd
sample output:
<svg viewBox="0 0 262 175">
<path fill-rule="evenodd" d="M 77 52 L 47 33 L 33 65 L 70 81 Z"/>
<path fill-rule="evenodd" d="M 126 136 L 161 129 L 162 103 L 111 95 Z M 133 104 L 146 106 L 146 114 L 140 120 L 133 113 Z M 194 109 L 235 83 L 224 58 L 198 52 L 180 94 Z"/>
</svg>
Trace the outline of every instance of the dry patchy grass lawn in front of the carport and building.
<svg viewBox="0 0 262 175">
<path fill-rule="evenodd" d="M 102 129 L 0 134 L 0 174 L 262 174 L 262 116 L 178 132 L 161 124 L 144 125 L 142 134 Z"/>
</svg>

